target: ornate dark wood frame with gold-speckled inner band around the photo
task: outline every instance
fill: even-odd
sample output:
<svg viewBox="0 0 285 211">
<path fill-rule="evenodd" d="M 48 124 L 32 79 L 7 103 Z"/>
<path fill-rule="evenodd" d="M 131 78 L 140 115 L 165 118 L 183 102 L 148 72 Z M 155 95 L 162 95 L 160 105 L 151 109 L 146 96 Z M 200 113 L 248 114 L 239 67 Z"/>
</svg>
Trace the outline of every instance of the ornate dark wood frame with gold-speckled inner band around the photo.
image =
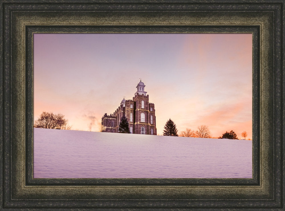
<svg viewBox="0 0 285 211">
<path fill-rule="evenodd" d="M 0 209 L 284 210 L 284 1 L 0 0 Z M 252 179 L 32 178 L 34 33 L 252 33 Z"/>
</svg>

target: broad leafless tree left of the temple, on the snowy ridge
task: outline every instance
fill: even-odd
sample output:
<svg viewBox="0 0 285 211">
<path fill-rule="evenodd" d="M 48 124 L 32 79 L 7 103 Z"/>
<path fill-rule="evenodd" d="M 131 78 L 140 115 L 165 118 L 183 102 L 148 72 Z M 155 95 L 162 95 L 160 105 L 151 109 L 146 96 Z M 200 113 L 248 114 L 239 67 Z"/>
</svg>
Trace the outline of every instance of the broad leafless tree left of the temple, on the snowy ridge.
<svg viewBox="0 0 285 211">
<path fill-rule="evenodd" d="M 40 117 L 35 121 L 34 127 L 49 129 L 71 129 L 72 126 L 67 125 L 68 120 L 64 119 L 62 114 L 53 114 L 52 112 L 42 112 Z"/>
</svg>

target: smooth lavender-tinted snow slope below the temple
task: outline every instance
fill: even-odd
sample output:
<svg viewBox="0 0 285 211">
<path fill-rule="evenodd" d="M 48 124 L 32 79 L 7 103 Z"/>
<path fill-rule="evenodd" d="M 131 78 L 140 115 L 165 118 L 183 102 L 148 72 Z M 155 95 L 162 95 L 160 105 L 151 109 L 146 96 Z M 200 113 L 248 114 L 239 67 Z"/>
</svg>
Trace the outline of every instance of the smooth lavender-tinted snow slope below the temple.
<svg viewBox="0 0 285 211">
<path fill-rule="evenodd" d="M 34 128 L 34 178 L 251 178 L 252 141 Z"/>
</svg>

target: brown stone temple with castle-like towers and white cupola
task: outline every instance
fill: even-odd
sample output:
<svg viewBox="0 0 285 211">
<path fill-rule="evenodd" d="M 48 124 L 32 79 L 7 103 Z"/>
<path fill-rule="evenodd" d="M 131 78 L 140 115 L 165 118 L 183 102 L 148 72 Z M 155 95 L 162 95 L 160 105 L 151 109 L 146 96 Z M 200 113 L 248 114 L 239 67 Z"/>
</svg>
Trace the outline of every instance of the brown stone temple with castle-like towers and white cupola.
<svg viewBox="0 0 285 211">
<path fill-rule="evenodd" d="M 104 114 L 101 132 L 117 133 L 121 117 L 126 116 L 131 133 L 156 135 L 154 104 L 148 102 L 144 87 L 144 83 L 140 81 L 133 100 L 124 98 L 113 114 Z"/>
</svg>

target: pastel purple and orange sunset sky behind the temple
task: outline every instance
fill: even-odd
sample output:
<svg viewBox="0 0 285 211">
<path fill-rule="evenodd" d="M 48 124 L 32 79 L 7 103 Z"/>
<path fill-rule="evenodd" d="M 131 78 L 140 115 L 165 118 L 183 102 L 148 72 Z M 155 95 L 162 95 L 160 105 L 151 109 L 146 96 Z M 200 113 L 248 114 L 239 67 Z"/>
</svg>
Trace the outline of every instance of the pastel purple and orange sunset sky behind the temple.
<svg viewBox="0 0 285 211">
<path fill-rule="evenodd" d="M 73 130 L 100 131 L 140 78 L 158 135 L 172 119 L 178 133 L 252 138 L 251 34 L 34 34 L 34 120 L 62 113 Z"/>
</svg>

